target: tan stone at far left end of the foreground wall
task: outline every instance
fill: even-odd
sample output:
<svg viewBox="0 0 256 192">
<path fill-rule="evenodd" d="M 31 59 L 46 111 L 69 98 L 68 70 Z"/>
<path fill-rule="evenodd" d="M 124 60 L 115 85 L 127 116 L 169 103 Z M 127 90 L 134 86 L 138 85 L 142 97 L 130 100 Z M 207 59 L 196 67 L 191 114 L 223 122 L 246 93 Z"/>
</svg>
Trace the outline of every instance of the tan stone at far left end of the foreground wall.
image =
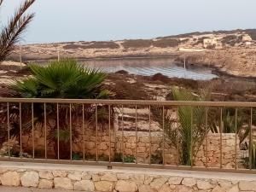
<svg viewBox="0 0 256 192">
<path fill-rule="evenodd" d="M 18 172 L 4 172 L 0 180 L 4 186 L 19 186 L 20 174 Z"/>
</svg>

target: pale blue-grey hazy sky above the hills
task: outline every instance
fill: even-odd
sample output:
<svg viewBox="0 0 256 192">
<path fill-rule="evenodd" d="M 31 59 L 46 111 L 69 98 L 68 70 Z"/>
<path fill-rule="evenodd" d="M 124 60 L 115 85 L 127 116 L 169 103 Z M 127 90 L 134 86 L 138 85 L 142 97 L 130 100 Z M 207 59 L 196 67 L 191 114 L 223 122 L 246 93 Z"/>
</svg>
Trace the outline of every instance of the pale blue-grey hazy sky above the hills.
<svg viewBox="0 0 256 192">
<path fill-rule="evenodd" d="M 5 0 L 4 23 L 22 0 Z M 25 42 L 154 38 L 255 28 L 255 0 L 37 0 Z"/>
</svg>

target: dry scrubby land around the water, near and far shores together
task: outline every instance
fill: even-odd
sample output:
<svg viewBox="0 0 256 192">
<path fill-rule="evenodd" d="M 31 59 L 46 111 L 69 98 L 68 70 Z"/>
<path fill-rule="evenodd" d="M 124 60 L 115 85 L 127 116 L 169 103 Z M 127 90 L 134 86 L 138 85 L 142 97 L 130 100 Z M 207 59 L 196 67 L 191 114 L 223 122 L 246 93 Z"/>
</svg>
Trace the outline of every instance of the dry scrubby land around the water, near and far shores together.
<svg viewBox="0 0 256 192">
<path fill-rule="evenodd" d="M 172 86 L 194 90 L 211 89 L 212 101 L 256 101 L 256 30 L 236 30 L 219 32 L 194 32 L 189 34 L 110 42 L 70 42 L 60 44 L 27 44 L 21 47 L 22 61 L 46 62 L 60 57 L 72 57 L 79 61 L 104 61 L 136 58 L 172 58 L 188 68 L 210 67 L 218 79 L 191 80 L 168 78 L 160 73 L 146 77 L 119 71 L 109 73 L 106 86 L 113 90 L 118 99 L 165 100 Z M 20 60 L 17 49 L 10 56 Z M 2 95 L 9 96 L 4 87 L 10 79 L 20 78 L 30 73 L 17 62 L 4 62 L 0 74 Z M 23 65 L 23 64 L 22 64 Z M 154 65 L 154 63 L 152 64 Z M 134 89 L 136 88 L 136 89 Z M 170 98 L 169 98 L 170 99 Z"/>
</svg>

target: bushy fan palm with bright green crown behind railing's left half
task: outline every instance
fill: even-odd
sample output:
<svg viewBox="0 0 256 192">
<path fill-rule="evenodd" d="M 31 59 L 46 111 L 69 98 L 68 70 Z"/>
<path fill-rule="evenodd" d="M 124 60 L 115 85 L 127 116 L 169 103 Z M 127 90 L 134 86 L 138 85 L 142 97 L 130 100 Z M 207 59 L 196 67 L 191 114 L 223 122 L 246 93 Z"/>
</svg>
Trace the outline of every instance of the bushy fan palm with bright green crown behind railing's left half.
<svg viewBox="0 0 256 192">
<path fill-rule="evenodd" d="M 26 98 L 70 98 L 70 99 L 105 99 L 111 96 L 111 92 L 104 89 L 102 82 L 106 78 L 106 73 L 101 73 L 96 69 L 84 68 L 77 61 L 64 59 L 61 61 L 52 61 L 46 67 L 39 65 L 30 65 L 32 77 L 16 80 L 11 88 L 17 92 L 17 96 Z M 71 108 L 70 108 L 71 107 Z M 44 125 L 44 104 L 34 103 L 34 122 L 32 122 L 31 104 L 23 103 L 21 106 L 22 114 L 22 132 L 29 133 L 34 125 Z M 59 104 L 57 121 L 56 104 L 47 103 L 47 126 L 49 135 L 47 138 L 55 143 L 55 157 L 58 151 L 58 139 L 60 143 L 60 158 L 69 159 L 67 153 L 70 148 L 70 122 L 69 115 L 72 113 L 73 126 L 81 120 L 84 111 L 84 122 L 87 127 L 94 128 L 95 116 L 97 110 L 98 127 L 106 127 L 108 124 L 108 106 L 84 105 L 84 110 L 79 104 Z M 19 131 L 19 105 L 12 104 L 10 113 L 10 134 L 20 137 Z M 111 119 L 113 119 L 113 108 L 111 108 Z M 3 117 L 6 116 L 6 110 L 2 110 Z M 54 124 L 50 122 L 55 122 Z M 112 120 L 113 122 L 113 120 Z M 81 122 L 79 122 L 81 124 Z M 59 129 L 58 129 L 59 128 Z M 6 133 L 6 131 L 5 131 Z M 4 135 L 4 133 L 1 133 Z M 1 135 L 0 134 L 0 135 Z M 59 137 L 58 137 L 59 136 Z M 77 137 L 76 130 L 73 129 L 72 138 Z M 6 137 L 5 137 L 6 138 Z"/>
</svg>

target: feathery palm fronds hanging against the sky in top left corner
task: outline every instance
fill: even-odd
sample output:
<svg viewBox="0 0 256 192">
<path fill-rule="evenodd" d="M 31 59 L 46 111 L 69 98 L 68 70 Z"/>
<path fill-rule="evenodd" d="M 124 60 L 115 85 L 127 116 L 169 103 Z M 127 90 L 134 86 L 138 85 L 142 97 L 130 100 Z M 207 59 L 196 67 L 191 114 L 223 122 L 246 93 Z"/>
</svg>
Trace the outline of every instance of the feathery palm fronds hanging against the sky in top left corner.
<svg viewBox="0 0 256 192">
<path fill-rule="evenodd" d="M 22 33 L 25 32 L 26 27 L 32 21 L 34 14 L 26 15 L 26 10 L 36 0 L 26 0 L 17 9 L 15 15 L 9 20 L 7 26 L 0 29 L 0 62 L 4 61 L 11 52 L 15 49 L 15 44 L 20 41 Z M 3 0 L 0 0 L 0 8 Z"/>
</svg>

